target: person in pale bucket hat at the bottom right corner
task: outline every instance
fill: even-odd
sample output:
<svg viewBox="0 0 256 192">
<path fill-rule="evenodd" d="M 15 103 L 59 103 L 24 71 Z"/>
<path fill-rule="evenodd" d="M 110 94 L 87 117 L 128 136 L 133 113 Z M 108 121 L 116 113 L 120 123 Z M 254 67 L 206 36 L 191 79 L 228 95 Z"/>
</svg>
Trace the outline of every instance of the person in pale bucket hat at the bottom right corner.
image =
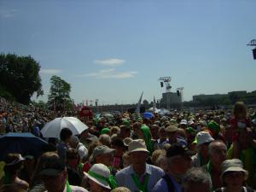
<svg viewBox="0 0 256 192">
<path fill-rule="evenodd" d="M 216 189 L 215 192 L 253 192 L 254 190 L 246 187 L 245 181 L 248 172 L 243 169 L 241 160 L 232 159 L 224 160 L 221 164 L 221 182 L 222 188 Z"/>
</svg>

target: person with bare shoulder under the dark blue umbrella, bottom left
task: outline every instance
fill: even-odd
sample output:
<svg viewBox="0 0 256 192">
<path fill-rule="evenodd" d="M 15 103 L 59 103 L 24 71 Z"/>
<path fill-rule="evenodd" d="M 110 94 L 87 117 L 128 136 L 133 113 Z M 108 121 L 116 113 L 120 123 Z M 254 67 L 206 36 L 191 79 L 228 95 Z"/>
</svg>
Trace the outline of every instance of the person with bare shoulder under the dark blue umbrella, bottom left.
<svg viewBox="0 0 256 192">
<path fill-rule="evenodd" d="M 28 189 L 29 184 L 18 177 L 24 160 L 20 154 L 7 154 L 3 168 L 5 175 L 0 180 L 0 187 L 5 184 L 16 184 L 20 189 Z"/>
</svg>

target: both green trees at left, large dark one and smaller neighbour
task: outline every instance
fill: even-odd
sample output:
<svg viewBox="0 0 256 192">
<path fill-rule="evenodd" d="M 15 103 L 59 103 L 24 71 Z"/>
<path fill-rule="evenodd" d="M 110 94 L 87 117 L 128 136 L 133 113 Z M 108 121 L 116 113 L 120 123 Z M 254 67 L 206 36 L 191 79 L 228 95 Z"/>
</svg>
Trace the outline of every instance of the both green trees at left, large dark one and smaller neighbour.
<svg viewBox="0 0 256 192">
<path fill-rule="evenodd" d="M 44 95 L 39 74 L 40 64 L 31 55 L 0 54 L 0 96 L 12 102 L 31 103 L 33 94 Z M 41 108 L 72 108 L 71 85 L 57 76 L 50 79 L 48 102 L 32 102 Z"/>
</svg>

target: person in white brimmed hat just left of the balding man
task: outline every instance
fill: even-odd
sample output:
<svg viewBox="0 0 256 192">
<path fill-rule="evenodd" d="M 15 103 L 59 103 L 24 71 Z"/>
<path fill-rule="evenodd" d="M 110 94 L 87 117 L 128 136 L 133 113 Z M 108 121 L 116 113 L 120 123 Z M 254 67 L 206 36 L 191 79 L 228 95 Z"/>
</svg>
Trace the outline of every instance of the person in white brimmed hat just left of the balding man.
<svg viewBox="0 0 256 192">
<path fill-rule="evenodd" d="M 212 143 L 214 139 L 207 131 L 200 131 L 195 136 L 195 143 L 197 153 L 192 156 L 191 164 L 195 167 L 204 166 L 209 161 L 208 145 Z"/>
</svg>

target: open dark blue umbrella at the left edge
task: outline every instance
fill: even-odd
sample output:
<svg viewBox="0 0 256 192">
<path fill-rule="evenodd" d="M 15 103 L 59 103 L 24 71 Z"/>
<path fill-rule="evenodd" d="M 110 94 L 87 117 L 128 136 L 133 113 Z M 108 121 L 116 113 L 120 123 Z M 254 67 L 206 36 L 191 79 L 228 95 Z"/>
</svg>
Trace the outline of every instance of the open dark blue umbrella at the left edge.
<svg viewBox="0 0 256 192">
<path fill-rule="evenodd" d="M 9 132 L 0 136 L 0 160 L 4 160 L 9 153 L 37 156 L 44 145 L 47 142 L 32 133 Z"/>
</svg>

